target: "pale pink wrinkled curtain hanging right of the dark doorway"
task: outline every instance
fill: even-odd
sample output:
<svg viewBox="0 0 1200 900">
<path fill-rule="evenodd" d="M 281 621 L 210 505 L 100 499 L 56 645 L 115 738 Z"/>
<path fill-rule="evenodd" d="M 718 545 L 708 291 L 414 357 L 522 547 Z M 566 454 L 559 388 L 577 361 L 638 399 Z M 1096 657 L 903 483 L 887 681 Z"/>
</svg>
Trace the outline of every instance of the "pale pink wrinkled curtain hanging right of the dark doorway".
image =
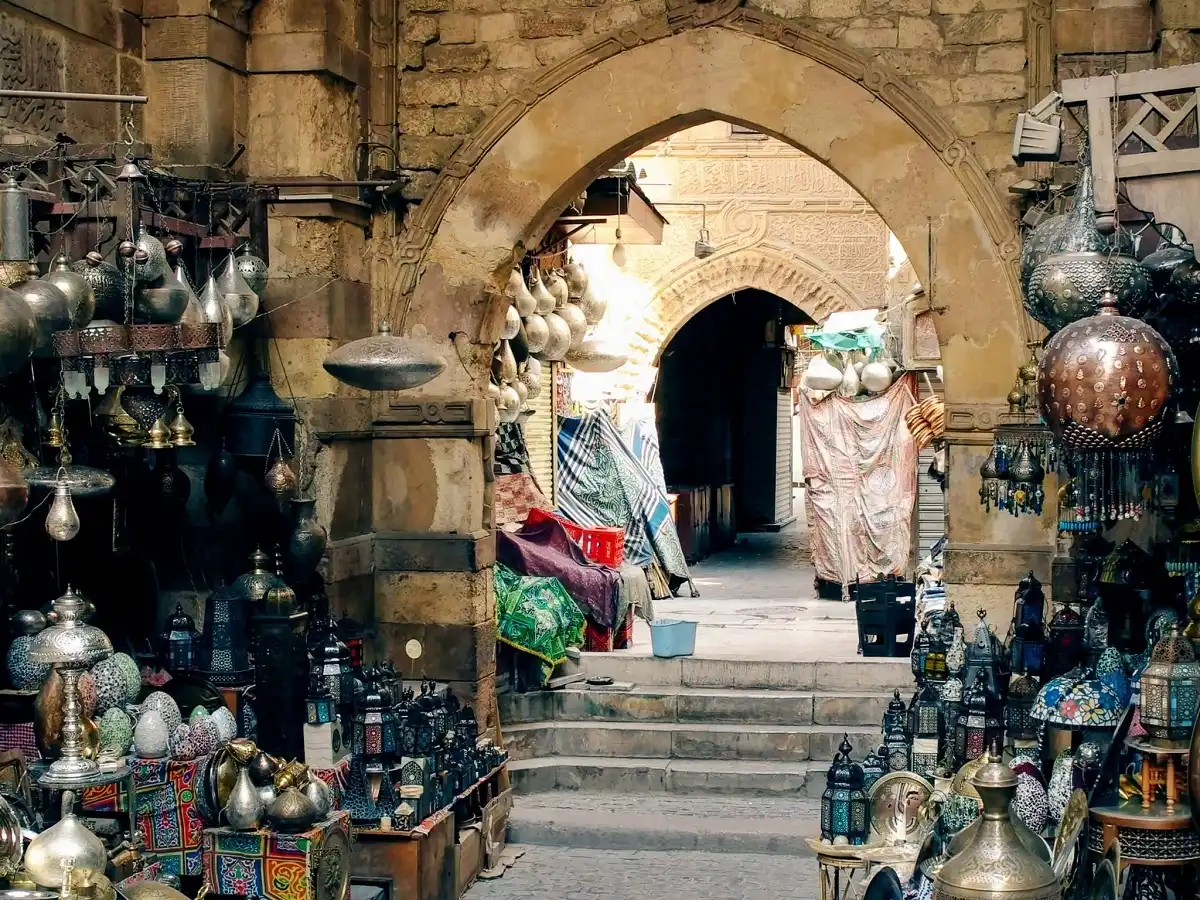
<svg viewBox="0 0 1200 900">
<path fill-rule="evenodd" d="M 800 396 L 804 505 L 812 563 L 826 581 L 905 571 L 917 498 L 917 449 L 905 424 L 913 386 L 905 374 L 870 400 Z"/>
</svg>

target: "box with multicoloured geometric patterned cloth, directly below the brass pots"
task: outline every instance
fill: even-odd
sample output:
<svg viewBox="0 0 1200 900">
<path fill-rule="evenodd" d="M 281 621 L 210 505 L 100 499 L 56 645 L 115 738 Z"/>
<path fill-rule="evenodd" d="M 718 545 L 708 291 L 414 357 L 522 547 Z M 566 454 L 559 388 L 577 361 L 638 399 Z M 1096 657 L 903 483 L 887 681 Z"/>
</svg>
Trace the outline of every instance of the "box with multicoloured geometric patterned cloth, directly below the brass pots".
<svg viewBox="0 0 1200 900">
<path fill-rule="evenodd" d="M 350 816 L 334 812 L 300 834 L 204 829 L 204 878 L 217 894 L 268 900 L 342 900 L 319 889 L 316 871 L 322 851 L 344 848 L 349 865 Z"/>
</svg>

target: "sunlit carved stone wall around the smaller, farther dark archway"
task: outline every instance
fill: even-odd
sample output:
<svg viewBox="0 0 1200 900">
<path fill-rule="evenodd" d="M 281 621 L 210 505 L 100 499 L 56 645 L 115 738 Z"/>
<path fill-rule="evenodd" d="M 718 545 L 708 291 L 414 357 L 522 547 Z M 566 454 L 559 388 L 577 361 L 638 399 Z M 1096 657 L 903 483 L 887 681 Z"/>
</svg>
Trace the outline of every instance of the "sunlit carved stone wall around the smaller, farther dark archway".
<svg viewBox="0 0 1200 900">
<path fill-rule="evenodd" d="M 580 235 L 575 256 L 608 299 L 600 334 L 630 348 L 617 372 L 576 376 L 581 396 L 642 398 L 670 338 L 725 294 L 758 288 L 821 320 L 883 302 L 888 228 L 833 170 L 791 144 L 715 121 L 631 155 L 640 187 L 666 217 L 662 242 L 607 246 Z M 701 228 L 715 253 L 695 256 Z"/>
</svg>

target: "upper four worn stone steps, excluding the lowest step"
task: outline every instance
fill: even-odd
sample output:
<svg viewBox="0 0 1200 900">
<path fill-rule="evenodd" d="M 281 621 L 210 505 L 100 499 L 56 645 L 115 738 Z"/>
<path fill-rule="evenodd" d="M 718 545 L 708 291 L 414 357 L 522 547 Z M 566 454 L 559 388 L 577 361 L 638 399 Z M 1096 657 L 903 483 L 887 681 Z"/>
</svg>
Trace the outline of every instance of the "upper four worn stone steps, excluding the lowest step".
<svg viewBox="0 0 1200 900">
<path fill-rule="evenodd" d="M 518 793 L 820 798 L 844 733 L 880 740 L 907 660 L 756 662 L 583 654 L 613 684 L 510 694 L 500 721 Z"/>
</svg>

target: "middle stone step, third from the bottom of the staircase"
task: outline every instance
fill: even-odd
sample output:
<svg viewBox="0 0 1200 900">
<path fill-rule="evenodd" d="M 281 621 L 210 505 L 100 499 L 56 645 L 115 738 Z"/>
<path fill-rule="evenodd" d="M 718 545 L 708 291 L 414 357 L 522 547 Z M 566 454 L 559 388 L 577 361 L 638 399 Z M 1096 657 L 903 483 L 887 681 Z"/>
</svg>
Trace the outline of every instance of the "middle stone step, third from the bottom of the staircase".
<svg viewBox="0 0 1200 900">
<path fill-rule="evenodd" d="M 858 758 L 880 743 L 878 726 L 547 721 L 505 726 L 504 745 L 514 760 L 599 756 L 803 762 L 832 760 L 847 733 Z"/>
</svg>

